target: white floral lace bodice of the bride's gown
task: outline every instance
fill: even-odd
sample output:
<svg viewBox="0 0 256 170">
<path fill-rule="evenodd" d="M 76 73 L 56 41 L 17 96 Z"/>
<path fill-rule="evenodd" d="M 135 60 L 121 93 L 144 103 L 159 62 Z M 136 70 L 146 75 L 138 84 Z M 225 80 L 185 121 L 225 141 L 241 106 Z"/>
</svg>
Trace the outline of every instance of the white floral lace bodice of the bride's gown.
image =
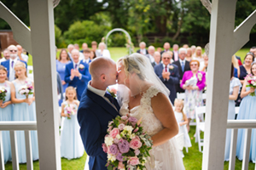
<svg viewBox="0 0 256 170">
<path fill-rule="evenodd" d="M 154 111 L 151 107 L 151 99 L 159 93 L 160 90 L 158 88 L 151 86 L 145 93 L 143 93 L 140 105 L 132 108 L 130 111 L 131 113 L 129 113 L 129 101 L 127 101 L 120 108 L 120 115 L 125 116 L 127 113 L 129 113 L 131 116 L 136 117 L 137 120 L 143 117 L 143 131 L 147 132 L 148 135 L 153 136 L 155 133 L 160 132 L 160 130 L 164 128 L 160 120 L 154 116 Z"/>
</svg>

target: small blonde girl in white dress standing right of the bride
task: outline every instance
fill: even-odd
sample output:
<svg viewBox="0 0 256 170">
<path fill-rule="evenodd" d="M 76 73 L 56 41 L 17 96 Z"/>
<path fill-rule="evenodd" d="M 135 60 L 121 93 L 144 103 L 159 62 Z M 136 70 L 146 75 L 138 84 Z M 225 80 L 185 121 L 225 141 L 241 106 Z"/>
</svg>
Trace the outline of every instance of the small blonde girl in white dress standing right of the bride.
<svg viewBox="0 0 256 170">
<path fill-rule="evenodd" d="M 181 142 L 183 144 L 184 147 L 191 147 L 191 141 L 189 139 L 189 133 L 187 130 L 186 125 L 188 124 L 188 118 L 187 116 L 184 114 L 183 112 L 183 107 L 184 107 L 184 103 L 182 99 L 175 99 L 174 100 L 174 106 L 175 106 L 175 117 L 177 120 L 177 123 L 179 125 L 179 131 L 178 131 L 178 135 L 180 135 L 181 133 L 183 133 L 183 142 Z M 177 142 L 179 143 L 179 142 Z"/>
</svg>

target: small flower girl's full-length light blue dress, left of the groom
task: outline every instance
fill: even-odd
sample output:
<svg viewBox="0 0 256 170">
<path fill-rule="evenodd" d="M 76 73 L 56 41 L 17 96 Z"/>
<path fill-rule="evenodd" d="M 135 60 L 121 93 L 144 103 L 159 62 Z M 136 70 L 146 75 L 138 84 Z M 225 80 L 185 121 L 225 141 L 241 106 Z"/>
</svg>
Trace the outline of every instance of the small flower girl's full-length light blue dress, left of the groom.
<svg viewBox="0 0 256 170">
<path fill-rule="evenodd" d="M 64 105 L 68 105 L 67 101 L 63 102 Z M 78 106 L 76 109 L 78 109 Z M 67 111 L 64 111 L 67 114 Z M 61 157 L 67 159 L 79 158 L 84 155 L 84 145 L 79 134 L 79 122 L 77 115 L 62 117 L 61 122 Z"/>
</svg>

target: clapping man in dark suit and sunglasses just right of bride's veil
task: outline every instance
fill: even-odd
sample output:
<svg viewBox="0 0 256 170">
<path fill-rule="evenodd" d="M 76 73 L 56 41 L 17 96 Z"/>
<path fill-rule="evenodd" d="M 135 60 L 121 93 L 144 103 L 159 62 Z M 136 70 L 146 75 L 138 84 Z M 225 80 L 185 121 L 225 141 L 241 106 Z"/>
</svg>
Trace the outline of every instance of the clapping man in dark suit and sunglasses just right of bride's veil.
<svg viewBox="0 0 256 170">
<path fill-rule="evenodd" d="M 175 85 L 179 82 L 177 65 L 170 64 L 171 55 L 167 52 L 162 54 L 162 61 L 163 64 L 154 66 L 154 72 L 170 90 L 169 98 L 174 104 L 174 99 L 177 97 Z"/>
</svg>

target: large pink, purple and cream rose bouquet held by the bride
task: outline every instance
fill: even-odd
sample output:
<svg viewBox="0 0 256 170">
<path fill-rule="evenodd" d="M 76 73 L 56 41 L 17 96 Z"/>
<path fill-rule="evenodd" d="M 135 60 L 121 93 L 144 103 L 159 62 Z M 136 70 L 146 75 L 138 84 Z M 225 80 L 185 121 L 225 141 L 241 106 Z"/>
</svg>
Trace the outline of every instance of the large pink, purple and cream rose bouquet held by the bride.
<svg viewBox="0 0 256 170">
<path fill-rule="evenodd" d="M 141 119 L 132 116 L 117 116 L 108 123 L 108 134 L 102 149 L 108 154 L 108 170 L 145 169 L 152 149 L 152 140 L 143 133 Z"/>
</svg>

